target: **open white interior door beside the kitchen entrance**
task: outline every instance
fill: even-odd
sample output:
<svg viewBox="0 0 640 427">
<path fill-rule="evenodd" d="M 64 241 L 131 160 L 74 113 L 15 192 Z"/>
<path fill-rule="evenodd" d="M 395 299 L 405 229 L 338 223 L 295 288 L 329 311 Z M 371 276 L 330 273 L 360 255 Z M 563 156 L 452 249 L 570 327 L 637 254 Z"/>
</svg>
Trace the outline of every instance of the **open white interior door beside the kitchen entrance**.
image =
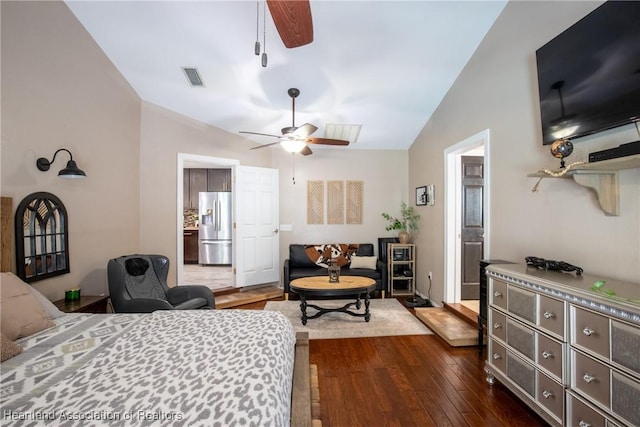
<svg viewBox="0 0 640 427">
<path fill-rule="evenodd" d="M 278 170 L 236 166 L 235 286 L 280 280 Z"/>
</svg>

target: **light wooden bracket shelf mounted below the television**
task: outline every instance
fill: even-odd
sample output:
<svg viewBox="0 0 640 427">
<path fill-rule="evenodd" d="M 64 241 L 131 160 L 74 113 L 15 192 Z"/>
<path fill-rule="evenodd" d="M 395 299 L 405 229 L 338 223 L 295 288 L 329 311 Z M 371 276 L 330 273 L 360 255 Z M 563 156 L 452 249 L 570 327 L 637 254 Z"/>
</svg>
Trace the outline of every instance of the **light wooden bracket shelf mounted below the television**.
<svg viewBox="0 0 640 427">
<path fill-rule="evenodd" d="M 527 176 L 531 178 L 573 178 L 576 184 L 595 191 L 600 208 L 605 215 L 618 216 L 620 215 L 618 171 L 636 168 L 640 168 L 640 155 L 577 165 L 565 175 L 558 177 L 547 175 L 544 172 L 530 173 Z"/>
</svg>

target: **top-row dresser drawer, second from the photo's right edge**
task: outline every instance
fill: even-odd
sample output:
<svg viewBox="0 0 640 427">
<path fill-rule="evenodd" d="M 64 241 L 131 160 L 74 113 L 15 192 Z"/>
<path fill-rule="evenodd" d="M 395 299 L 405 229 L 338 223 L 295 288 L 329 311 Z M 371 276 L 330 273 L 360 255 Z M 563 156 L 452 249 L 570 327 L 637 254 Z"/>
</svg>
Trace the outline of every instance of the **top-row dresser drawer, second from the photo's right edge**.
<svg viewBox="0 0 640 427">
<path fill-rule="evenodd" d="M 571 306 L 571 344 L 609 359 L 609 319 Z"/>
</svg>

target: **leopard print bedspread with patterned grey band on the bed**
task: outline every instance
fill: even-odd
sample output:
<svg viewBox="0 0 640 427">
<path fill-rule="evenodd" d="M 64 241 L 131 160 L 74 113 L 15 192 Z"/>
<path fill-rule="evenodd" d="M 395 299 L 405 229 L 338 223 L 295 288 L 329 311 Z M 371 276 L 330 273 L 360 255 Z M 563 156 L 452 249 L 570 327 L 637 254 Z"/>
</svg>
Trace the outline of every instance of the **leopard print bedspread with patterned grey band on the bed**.
<svg viewBox="0 0 640 427">
<path fill-rule="evenodd" d="M 251 310 L 76 315 L 2 363 L 2 425 L 288 426 L 295 334 Z"/>
</svg>

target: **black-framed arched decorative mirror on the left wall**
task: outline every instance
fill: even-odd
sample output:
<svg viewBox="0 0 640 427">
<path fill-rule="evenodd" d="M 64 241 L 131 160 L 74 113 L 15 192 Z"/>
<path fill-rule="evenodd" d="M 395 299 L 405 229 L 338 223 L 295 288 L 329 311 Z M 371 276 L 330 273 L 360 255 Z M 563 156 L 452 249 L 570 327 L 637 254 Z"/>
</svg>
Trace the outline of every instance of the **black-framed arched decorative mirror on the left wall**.
<svg viewBox="0 0 640 427">
<path fill-rule="evenodd" d="M 67 209 L 51 193 L 29 194 L 15 216 L 16 267 L 25 282 L 69 272 Z"/>
</svg>

